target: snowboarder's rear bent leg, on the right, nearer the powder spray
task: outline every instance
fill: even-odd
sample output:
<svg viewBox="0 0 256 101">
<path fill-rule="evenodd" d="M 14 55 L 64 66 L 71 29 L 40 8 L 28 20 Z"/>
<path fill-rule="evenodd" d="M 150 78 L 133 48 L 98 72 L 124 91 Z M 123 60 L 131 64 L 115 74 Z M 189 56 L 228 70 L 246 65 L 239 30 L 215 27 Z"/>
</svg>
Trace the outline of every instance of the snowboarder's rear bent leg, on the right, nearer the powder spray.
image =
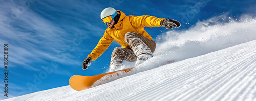
<svg viewBox="0 0 256 101">
<path fill-rule="evenodd" d="M 135 32 L 127 32 L 124 38 L 125 42 L 129 44 L 134 54 L 138 57 L 136 66 L 153 57 L 153 52 L 156 49 L 155 41 Z"/>
</svg>

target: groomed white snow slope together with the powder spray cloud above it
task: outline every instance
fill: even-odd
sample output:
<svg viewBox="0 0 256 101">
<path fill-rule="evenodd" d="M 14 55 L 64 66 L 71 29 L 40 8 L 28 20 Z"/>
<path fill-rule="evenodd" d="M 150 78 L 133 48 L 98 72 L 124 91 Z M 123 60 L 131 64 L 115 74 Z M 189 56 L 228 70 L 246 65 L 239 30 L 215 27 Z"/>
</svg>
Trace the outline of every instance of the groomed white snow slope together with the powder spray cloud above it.
<svg viewBox="0 0 256 101">
<path fill-rule="evenodd" d="M 64 86 L 6 100 L 256 100 L 256 20 L 228 18 L 214 17 L 186 31 L 159 35 L 152 59 L 95 85 L 109 83 L 79 92 Z M 163 65 L 172 60 L 176 62 Z"/>
</svg>

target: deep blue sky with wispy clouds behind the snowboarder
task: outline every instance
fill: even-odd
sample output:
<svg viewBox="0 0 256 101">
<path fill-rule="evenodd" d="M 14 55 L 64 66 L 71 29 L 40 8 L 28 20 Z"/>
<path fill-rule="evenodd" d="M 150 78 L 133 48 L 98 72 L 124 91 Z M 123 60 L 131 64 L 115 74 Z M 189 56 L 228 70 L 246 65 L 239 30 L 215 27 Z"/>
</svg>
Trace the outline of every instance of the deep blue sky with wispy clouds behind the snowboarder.
<svg viewBox="0 0 256 101">
<path fill-rule="evenodd" d="M 69 85 L 72 75 L 96 75 L 109 68 L 113 42 L 89 69 L 82 61 L 97 45 L 106 25 L 100 13 L 114 7 L 126 15 L 151 15 L 181 22 L 186 30 L 198 21 L 219 15 L 232 18 L 247 14 L 255 17 L 256 2 L 245 1 L 0 1 L 1 87 L 4 87 L 4 43 L 8 43 L 8 98 Z M 163 27 L 145 28 L 152 38 L 167 32 Z M 39 79 L 38 79 L 39 78 Z M 28 86 L 29 85 L 29 86 Z M 1 90 L 1 99 L 4 97 Z"/>
</svg>

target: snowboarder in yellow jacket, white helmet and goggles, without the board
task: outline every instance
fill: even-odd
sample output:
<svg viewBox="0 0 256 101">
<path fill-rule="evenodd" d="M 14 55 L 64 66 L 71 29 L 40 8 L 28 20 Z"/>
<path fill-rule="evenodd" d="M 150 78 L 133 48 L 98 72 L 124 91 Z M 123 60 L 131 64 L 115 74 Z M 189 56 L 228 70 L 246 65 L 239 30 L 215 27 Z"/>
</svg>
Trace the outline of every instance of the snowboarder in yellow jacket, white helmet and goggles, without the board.
<svg viewBox="0 0 256 101">
<path fill-rule="evenodd" d="M 110 71 L 124 66 L 123 61 L 135 62 L 136 66 L 153 57 L 156 43 L 144 30 L 144 27 L 161 27 L 172 29 L 180 27 L 176 20 L 156 18 L 154 16 L 126 16 L 122 11 L 105 8 L 101 12 L 101 20 L 108 25 L 103 37 L 91 54 L 83 60 L 82 68 L 88 69 L 92 60 L 96 60 L 113 41 L 121 47 L 116 47 L 111 55 Z"/>
</svg>

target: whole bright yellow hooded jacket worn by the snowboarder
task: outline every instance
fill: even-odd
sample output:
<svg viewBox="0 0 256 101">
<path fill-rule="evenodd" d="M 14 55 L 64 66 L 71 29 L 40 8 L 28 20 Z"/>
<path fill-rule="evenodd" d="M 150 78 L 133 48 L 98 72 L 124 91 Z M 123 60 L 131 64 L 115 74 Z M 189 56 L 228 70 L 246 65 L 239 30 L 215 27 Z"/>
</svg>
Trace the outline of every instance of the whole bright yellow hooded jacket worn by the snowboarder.
<svg viewBox="0 0 256 101">
<path fill-rule="evenodd" d="M 115 24 L 115 28 L 106 29 L 103 37 L 100 39 L 98 45 L 94 48 L 91 54 L 88 57 L 91 57 L 93 60 L 96 60 L 105 50 L 110 46 L 113 41 L 119 43 L 122 47 L 130 47 L 124 41 L 124 35 L 127 32 L 136 32 L 145 36 L 146 38 L 153 40 L 152 37 L 144 30 L 144 27 L 160 27 L 161 21 L 165 18 L 156 18 L 154 16 L 126 16 L 122 11 L 117 10 L 120 18 L 118 23 Z"/>
</svg>

